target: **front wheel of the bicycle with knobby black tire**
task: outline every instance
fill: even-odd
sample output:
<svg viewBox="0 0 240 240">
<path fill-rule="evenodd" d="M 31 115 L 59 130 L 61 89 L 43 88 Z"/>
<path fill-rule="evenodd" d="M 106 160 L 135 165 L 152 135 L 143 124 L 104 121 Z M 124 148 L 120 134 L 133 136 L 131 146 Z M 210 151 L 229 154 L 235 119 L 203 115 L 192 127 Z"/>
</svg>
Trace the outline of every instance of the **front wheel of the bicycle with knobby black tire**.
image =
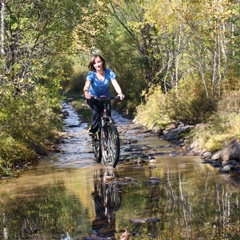
<svg viewBox="0 0 240 240">
<path fill-rule="evenodd" d="M 105 166 L 115 168 L 119 161 L 120 140 L 116 126 L 113 123 L 101 128 L 101 153 Z"/>
</svg>

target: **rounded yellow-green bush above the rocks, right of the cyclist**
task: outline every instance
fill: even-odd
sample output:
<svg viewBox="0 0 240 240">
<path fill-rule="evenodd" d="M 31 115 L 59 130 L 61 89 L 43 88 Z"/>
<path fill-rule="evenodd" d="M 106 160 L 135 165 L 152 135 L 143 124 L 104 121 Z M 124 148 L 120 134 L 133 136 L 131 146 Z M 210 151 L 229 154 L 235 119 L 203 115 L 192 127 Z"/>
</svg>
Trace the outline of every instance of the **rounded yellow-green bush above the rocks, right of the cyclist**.
<svg viewBox="0 0 240 240">
<path fill-rule="evenodd" d="M 216 101 L 206 98 L 201 82 L 190 78 L 166 94 L 160 86 L 152 86 L 145 100 L 146 103 L 137 108 L 137 119 L 149 128 L 153 123 L 164 127 L 170 122 L 205 122 L 216 109 Z"/>
</svg>

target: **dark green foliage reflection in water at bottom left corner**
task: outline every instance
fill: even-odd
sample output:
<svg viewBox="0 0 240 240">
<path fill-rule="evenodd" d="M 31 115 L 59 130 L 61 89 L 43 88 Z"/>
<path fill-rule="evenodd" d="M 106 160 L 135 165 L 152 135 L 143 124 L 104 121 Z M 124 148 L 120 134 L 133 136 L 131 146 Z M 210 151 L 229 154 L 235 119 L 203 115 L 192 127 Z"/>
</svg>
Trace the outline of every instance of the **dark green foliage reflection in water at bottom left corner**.
<svg viewBox="0 0 240 240">
<path fill-rule="evenodd" d="M 86 222 L 84 209 L 66 195 L 61 183 L 9 200 L 0 211 L 1 239 L 62 239 L 77 236 Z"/>
</svg>

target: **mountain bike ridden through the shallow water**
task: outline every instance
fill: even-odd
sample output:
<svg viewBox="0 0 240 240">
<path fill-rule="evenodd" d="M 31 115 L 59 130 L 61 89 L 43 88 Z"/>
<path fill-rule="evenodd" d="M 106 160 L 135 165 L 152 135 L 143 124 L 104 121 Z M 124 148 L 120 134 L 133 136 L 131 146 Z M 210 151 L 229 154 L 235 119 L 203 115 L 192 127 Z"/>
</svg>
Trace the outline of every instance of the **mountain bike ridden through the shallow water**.
<svg viewBox="0 0 240 240">
<path fill-rule="evenodd" d="M 85 97 L 82 98 L 86 100 Z M 119 97 L 108 98 L 106 96 L 101 96 L 97 98 L 92 96 L 92 98 L 103 104 L 103 112 L 101 113 L 98 123 L 98 131 L 92 138 L 94 160 L 98 163 L 102 161 L 105 166 L 115 168 L 120 156 L 120 139 L 117 127 L 108 114 L 107 104 L 110 100 L 119 100 Z"/>
</svg>

